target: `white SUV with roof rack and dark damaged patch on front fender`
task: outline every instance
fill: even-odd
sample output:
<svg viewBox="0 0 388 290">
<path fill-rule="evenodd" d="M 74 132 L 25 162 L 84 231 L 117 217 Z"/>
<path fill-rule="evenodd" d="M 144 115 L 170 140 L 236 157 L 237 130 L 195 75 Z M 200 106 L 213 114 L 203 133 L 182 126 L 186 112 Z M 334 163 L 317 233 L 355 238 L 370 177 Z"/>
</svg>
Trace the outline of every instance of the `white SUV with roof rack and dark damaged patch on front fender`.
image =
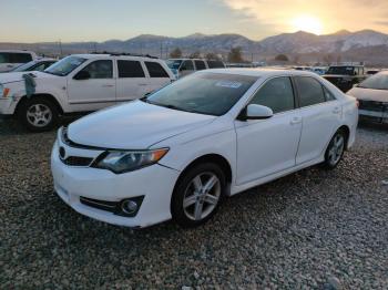
<svg viewBox="0 0 388 290">
<path fill-rule="evenodd" d="M 136 100 L 174 80 L 155 58 L 74 54 L 44 72 L 1 74 L 0 115 L 16 115 L 30 131 L 41 132 L 60 115 Z"/>
</svg>

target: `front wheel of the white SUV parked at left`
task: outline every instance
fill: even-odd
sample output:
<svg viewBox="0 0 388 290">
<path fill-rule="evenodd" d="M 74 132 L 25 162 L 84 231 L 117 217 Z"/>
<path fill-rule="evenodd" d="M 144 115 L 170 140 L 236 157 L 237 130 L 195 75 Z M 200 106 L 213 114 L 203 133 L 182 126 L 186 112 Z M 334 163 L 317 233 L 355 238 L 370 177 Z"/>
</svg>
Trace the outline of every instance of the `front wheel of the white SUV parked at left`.
<svg viewBox="0 0 388 290">
<path fill-rule="evenodd" d="M 33 97 L 22 104 L 19 120 L 29 131 L 44 132 L 57 124 L 58 110 L 50 100 Z"/>
</svg>

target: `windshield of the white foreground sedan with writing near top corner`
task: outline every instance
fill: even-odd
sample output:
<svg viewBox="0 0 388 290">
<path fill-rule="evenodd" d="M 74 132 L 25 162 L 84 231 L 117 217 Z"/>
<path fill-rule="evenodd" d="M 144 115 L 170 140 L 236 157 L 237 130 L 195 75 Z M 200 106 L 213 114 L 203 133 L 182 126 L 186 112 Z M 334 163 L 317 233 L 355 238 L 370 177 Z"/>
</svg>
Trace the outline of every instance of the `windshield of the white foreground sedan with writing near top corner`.
<svg viewBox="0 0 388 290">
<path fill-rule="evenodd" d="M 257 76 L 201 72 L 183 77 L 143 101 L 173 110 L 221 116 L 257 80 Z"/>
</svg>

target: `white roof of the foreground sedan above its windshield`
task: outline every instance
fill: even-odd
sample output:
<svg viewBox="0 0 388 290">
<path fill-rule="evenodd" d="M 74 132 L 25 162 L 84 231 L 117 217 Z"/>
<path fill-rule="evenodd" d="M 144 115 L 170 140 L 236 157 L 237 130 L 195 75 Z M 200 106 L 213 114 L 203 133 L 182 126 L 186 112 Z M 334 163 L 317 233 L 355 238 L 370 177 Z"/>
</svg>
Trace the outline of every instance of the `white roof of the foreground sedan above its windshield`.
<svg viewBox="0 0 388 290">
<path fill-rule="evenodd" d="M 247 76 L 257 76 L 257 77 L 270 77 L 270 76 L 277 76 L 277 75 L 286 75 L 286 76 L 293 76 L 293 75 L 304 75 L 304 76 L 317 76 L 313 72 L 308 71 L 295 71 L 295 70 L 284 70 L 284 69 L 263 69 L 263 68 L 255 68 L 255 69 L 213 69 L 213 70 L 206 70 L 202 72 L 213 72 L 213 73 L 225 73 L 225 74 L 238 74 L 238 75 L 247 75 Z"/>
</svg>

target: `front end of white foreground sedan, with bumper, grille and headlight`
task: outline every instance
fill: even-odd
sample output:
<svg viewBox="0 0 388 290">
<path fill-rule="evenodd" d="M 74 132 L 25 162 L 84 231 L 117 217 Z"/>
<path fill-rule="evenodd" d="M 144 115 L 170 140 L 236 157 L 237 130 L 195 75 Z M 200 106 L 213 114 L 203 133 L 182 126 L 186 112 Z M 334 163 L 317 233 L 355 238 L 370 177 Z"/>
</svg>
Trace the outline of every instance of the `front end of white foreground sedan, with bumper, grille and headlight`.
<svg viewBox="0 0 388 290">
<path fill-rule="evenodd" d="M 78 145 L 60 130 L 51 155 L 54 188 L 74 210 L 101 221 L 134 228 L 161 222 L 171 219 L 171 194 L 180 174 L 157 164 L 163 154 L 125 155 Z M 132 168 L 125 168 L 121 155 L 144 164 L 131 160 Z"/>
</svg>

